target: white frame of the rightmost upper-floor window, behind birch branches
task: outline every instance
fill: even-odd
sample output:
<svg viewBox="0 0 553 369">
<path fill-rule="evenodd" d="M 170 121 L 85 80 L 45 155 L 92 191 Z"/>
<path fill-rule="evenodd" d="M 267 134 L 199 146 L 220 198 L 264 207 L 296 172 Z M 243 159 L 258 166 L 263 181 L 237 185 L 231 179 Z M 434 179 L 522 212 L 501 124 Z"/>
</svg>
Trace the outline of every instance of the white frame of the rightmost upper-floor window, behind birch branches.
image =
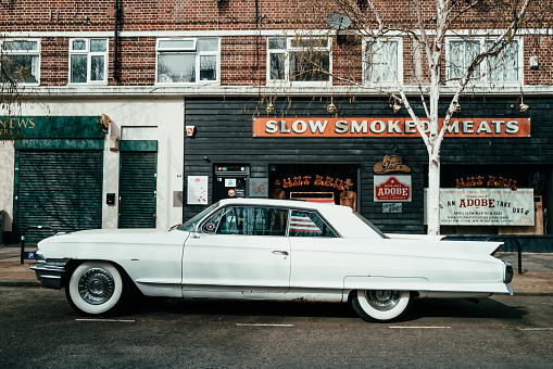
<svg viewBox="0 0 553 369">
<path fill-rule="evenodd" d="M 478 41 L 479 42 L 479 53 L 486 51 L 487 42 L 494 41 L 497 37 L 493 36 L 477 36 L 477 37 L 448 37 L 445 42 L 445 79 L 448 85 L 457 85 L 458 78 L 451 79 L 451 59 L 450 59 L 450 52 L 451 52 L 451 41 Z M 514 37 L 513 41 L 516 41 L 518 44 L 517 50 L 517 80 L 491 80 L 490 79 L 490 68 L 488 67 L 488 63 L 490 61 L 489 58 L 483 60 L 479 65 L 479 75 L 481 75 L 481 78 L 477 78 L 478 74 L 473 73 L 473 76 L 470 77 L 470 85 L 486 85 L 486 86 L 521 86 L 524 85 L 524 42 L 523 37 Z M 505 50 L 505 49 L 503 49 Z M 503 51 L 502 51 L 503 52 Z M 501 58 L 501 54 L 499 55 Z M 495 69 L 497 71 L 497 69 Z"/>
</svg>

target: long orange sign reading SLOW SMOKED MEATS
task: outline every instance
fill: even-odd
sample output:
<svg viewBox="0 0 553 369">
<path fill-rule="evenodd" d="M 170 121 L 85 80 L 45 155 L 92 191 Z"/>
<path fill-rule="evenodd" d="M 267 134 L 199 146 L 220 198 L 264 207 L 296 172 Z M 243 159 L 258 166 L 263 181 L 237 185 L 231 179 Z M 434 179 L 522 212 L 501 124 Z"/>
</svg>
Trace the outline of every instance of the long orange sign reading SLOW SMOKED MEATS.
<svg viewBox="0 0 553 369">
<path fill-rule="evenodd" d="M 439 119 L 443 124 L 444 119 Z M 422 119 L 425 132 L 428 120 Z M 529 137 L 529 118 L 463 118 L 450 122 L 448 137 Z M 254 118 L 253 137 L 419 137 L 411 118 Z"/>
</svg>

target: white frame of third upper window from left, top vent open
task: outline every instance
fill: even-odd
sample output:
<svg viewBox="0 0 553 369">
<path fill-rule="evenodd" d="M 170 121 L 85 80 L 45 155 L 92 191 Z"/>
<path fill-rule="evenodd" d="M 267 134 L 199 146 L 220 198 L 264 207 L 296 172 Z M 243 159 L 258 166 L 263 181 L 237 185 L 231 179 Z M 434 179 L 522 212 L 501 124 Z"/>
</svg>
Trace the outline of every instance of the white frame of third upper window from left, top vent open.
<svg viewBox="0 0 553 369">
<path fill-rule="evenodd" d="M 217 50 L 216 51 L 198 51 L 198 41 L 201 39 L 216 39 L 217 40 Z M 192 46 L 190 47 L 163 47 L 160 46 L 163 41 L 192 41 Z M 196 81 L 173 81 L 169 76 L 163 78 L 159 76 L 159 56 L 161 54 L 169 54 L 169 53 L 190 53 L 196 55 Z M 202 56 L 215 56 L 216 58 L 216 78 L 209 80 L 201 80 L 201 58 Z M 164 79 L 164 80 L 160 80 Z M 162 86 L 175 86 L 175 85 L 218 85 L 221 84 L 221 38 L 219 37 L 186 37 L 186 38 L 159 38 L 155 40 L 155 85 Z"/>
</svg>

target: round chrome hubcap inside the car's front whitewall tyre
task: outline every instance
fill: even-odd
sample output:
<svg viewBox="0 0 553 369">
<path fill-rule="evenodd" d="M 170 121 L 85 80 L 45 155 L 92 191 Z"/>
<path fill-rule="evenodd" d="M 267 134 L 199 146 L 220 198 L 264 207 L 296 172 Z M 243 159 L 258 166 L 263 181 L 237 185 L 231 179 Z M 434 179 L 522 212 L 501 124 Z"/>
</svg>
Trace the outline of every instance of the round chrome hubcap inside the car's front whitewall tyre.
<svg viewBox="0 0 553 369">
<path fill-rule="evenodd" d="M 101 305 L 111 298 L 115 290 L 113 276 L 105 269 L 87 270 L 78 280 L 78 293 L 91 305 Z"/>
</svg>

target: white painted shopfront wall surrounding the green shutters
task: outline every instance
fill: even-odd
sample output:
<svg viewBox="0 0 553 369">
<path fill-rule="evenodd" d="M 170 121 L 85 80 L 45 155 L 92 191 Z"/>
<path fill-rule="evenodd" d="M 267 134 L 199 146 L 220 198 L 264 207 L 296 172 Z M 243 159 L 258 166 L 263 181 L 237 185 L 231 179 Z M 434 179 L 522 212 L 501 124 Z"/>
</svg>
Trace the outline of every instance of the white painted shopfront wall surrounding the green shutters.
<svg viewBox="0 0 553 369">
<path fill-rule="evenodd" d="M 110 137 L 158 140 L 156 228 L 167 229 L 183 220 L 183 208 L 173 207 L 173 193 L 183 191 L 184 99 L 71 99 L 27 103 L 22 115 L 78 116 L 105 114 L 111 119 L 104 139 L 102 228 L 117 228 L 117 202 L 105 204 L 106 193 L 118 196 L 120 153 L 111 151 Z M 0 209 L 8 213 L 4 230 L 12 229 L 14 149 L 0 141 Z"/>
</svg>

